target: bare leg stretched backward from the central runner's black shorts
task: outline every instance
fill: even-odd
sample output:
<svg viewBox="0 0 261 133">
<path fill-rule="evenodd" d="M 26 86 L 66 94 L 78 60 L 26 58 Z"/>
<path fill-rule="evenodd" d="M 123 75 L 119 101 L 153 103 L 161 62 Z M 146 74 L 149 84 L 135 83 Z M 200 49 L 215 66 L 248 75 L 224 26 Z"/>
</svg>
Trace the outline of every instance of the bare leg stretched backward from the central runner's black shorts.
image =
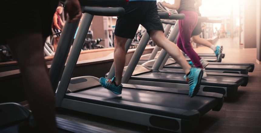
<svg viewBox="0 0 261 133">
<path fill-rule="evenodd" d="M 187 60 L 181 54 L 180 49 L 176 44 L 169 41 L 163 34 L 163 31 L 151 30 L 151 39 L 161 48 L 166 50 L 168 54 L 184 69 L 185 73 L 188 74 L 191 66 L 188 64 Z"/>
</svg>

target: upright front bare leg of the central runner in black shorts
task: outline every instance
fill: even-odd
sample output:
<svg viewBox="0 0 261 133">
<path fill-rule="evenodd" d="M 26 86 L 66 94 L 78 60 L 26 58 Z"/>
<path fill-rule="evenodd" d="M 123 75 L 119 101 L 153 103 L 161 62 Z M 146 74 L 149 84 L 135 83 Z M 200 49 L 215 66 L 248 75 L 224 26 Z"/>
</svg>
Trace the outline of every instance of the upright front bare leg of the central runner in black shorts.
<svg viewBox="0 0 261 133">
<path fill-rule="evenodd" d="M 115 64 L 115 84 L 121 84 L 122 72 L 125 65 L 125 43 L 128 38 L 115 36 L 114 38 L 114 64 Z"/>
</svg>

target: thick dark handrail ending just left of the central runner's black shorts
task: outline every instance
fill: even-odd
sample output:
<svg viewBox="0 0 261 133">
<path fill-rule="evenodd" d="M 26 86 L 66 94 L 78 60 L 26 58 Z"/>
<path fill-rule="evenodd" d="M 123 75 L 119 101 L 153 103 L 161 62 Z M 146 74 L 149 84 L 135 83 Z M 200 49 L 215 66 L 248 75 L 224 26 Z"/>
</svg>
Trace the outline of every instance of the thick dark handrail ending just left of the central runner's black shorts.
<svg viewBox="0 0 261 133">
<path fill-rule="evenodd" d="M 96 16 L 120 16 L 124 15 L 125 10 L 122 7 L 102 8 L 85 6 L 83 12 Z"/>
</svg>

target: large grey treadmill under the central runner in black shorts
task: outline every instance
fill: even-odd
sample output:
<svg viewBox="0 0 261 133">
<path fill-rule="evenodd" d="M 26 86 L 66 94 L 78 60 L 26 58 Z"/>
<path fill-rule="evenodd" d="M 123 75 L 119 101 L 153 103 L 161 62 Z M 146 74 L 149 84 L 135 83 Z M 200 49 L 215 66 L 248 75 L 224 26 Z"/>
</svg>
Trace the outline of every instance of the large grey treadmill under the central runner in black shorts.
<svg viewBox="0 0 261 133">
<path fill-rule="evenodd" d="M 121 6 L 118 1 L 126 2 L 125 0 L 110 0 L 110 3 L 114 4 L 110 7 Z M 86 4 L 81 3 L 81 5 Z M 65 64 L 63 61 L 66 60 L 66 56 L 61 55 L 68 54 L 69 43 L 63 47 L 59 47 L 62 45 L 58 44 L 50 69 L 50 74 L 51 72 L 58 76 L 62 74 L 60 82 L 59 78 L 58 80 L 51 79 L 54 88 L 59 83 L 55 95 L 56 107 L 176 132 L 194 131 L 200 116 L 209 110 L 221 109 L 223 95 L 218 93 L 199 92 L 197 96 L 189 98 L 187 90 L 173 87 L 123 84 L 122 94 L 115 95 L 100 86 L 99 79 L 96 77 L 83 76 L 71 79 L 93 15 L 118 16 L 124 13 L 124 8 L 84 7 L 83 11 L 85 12 L 82 18 L 84 25 L 81 24 L 78 29 L 79 34 L 73 42 L 64 72 L 60 68 Z M 170 15 L 169 13 L 159 13 L 159 15 L 160 18 L 165 19 L 184 17 L 184 15 Z M 70 33 L 68 31 L 70 31 L 69 28 L 64 28 L 65 33 Z M 67 38 L 71 37 L 68 34 L 62 34 L 59 43 Z M 129 39 L 126 44 L 129 46 L 131 41 L 132 39 Z"/>
</svg>

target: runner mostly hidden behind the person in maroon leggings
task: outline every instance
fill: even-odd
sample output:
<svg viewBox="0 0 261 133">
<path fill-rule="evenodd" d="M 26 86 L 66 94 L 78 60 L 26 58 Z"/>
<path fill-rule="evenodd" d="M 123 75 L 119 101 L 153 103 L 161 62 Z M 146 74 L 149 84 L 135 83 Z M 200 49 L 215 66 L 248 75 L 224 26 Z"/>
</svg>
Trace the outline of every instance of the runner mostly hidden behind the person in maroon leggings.
<svg viewBox="0 0 261 133">
<path fill-rule="evenodd" d="M 199 7 L 201 5 L 202 5 L 202 0 L 195 0 L 195 8 L 196 8 L 196 11 L 198 13 L 198 16 L 201 16 L 201 14 L 199 13 Z M 201 32 L 202 32 L 201 23 L 198 23 L 191 33 L 192 41 L 197 43 L 197 44 L 201 44 L 203 46 L 211 48 L 214 51 L 214 53 L 217 57 L 217 61 L 220 62 L 222 60 L 222 56 L 223 56 L 223 54 L 222 54 L 223 46 L 214 46 L 209 41 L 207 41 L 205 38 L 199 37 L 199 34 Z M 189 64 L 193 65 L 192 61 L 190 61 Z"/>
</svg>

